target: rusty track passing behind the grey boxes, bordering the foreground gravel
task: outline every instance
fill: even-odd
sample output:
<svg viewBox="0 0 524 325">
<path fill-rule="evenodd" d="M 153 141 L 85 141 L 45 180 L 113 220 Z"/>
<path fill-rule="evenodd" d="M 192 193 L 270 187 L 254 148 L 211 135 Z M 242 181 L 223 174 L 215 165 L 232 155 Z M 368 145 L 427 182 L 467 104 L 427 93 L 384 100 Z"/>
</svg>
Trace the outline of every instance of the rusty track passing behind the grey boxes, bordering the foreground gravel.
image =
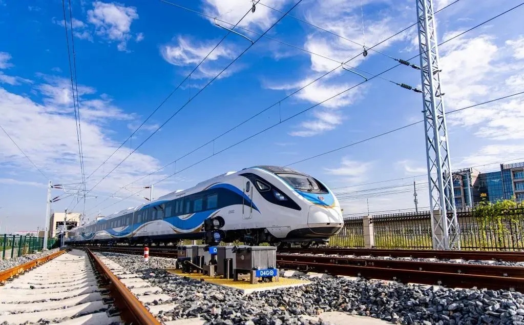
<svg viewBox="0 0 524 325">
<path fill-rule="evenodd" d="M 124 254 L 143 253 L 143 248 L 141 247 L 113 246 L 93 249 Z M 149 250 L 149 254 L 150 256 L 170 258 L 176 258 L 177 256 L 174 248 L 166 247 L 152 247 Z M 472 255 L 461 256 L 471 258 Z M 524 292 L 524 267 L 520 266 L 398 261 L 378 258 L 298 254 L 277 254 L 277 266 L 280 268 L 300 270 L 302 272 L 319 272 L 367 279 L 395 280 L 402 283 L 441 285 L 459 288 L 479 287 Z"/>
</svg>

